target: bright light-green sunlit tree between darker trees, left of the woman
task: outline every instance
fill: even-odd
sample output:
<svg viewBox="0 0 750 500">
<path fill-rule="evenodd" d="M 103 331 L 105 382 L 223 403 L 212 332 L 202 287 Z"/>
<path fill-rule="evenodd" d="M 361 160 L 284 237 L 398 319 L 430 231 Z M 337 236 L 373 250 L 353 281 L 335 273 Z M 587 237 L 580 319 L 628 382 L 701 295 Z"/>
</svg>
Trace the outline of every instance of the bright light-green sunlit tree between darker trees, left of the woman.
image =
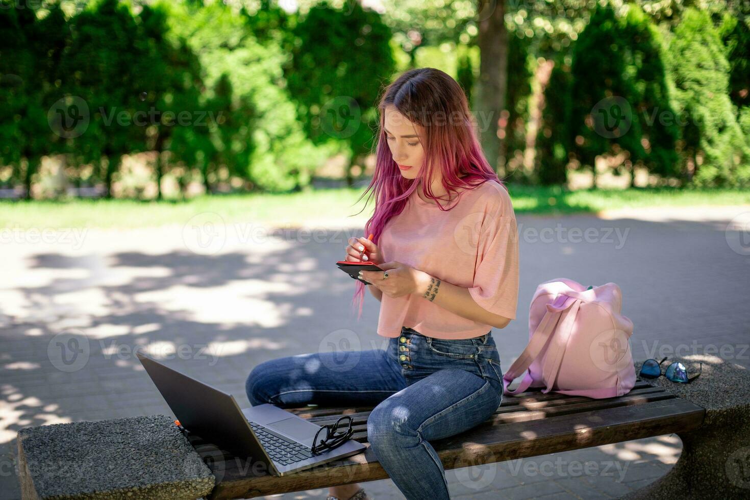
<svg viewBox="0 0 750 500">
<path fill-rule="evenodd" d="M 223 124 L 211 122 L 208 136 L 203 130 L 192 133 L 204 148 L 195 151 L 197 166 L 209 176 L 204 184 L 214 186 L 228 180 L 228 175 L 240 175 L 250 190 L 287 191 L 308 184 L 329 150 L 306 138 L 288 95 L 281 70 L 290 57 L 282 48 L 287 43 L 284 29 L 277 32 L 277 21 L 269 24 L 267 18 L 254 19 L 260 11 L 236 8 L 233 2 L 163 3 L 170 10 L 170 32 L 184 37 L 199 55 L 207 109 L 217 105 L 226 109 L 216 98 L 222 92 L 223 76 L 231 84 L 231 116 L 224 115 Z M 281 14 L 274 19 L 293 22 Z M 217 156 L 217 151 L 223 151 L 222 143 L 231 146 L 224 159 Z M 220 164 L 224 161 L 229 163 Z"/>
</svg>

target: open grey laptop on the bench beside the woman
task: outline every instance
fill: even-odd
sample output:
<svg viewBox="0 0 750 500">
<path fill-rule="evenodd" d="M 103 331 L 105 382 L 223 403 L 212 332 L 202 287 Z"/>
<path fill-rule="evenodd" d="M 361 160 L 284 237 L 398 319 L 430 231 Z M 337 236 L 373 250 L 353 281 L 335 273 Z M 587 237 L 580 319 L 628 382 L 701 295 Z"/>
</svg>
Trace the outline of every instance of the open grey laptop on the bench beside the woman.
<svg viewBox="0 0 750 500">
<path fill-rule="evenodd" d="M 310 469 L 367 448 L 349 439 L 338 448 L 314 455 L 311 447 L 319 425 L 268 403 L 240 409 L 231 394 L 141 352 L 136 351 L 136 355 L 182 427 L 236 457 L 248 457 L 253 465 L 263 463 L 271 475 Z M 325 434 L 325 430 L 320 433 L 319 442 Z"/>
</svg>

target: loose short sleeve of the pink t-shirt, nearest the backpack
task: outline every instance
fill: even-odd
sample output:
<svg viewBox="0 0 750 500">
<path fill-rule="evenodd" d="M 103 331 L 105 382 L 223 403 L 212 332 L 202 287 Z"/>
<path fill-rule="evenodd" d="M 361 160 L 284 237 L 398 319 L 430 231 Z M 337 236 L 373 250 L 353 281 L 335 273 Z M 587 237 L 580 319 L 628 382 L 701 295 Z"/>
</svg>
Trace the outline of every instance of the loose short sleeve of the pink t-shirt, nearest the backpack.
<svg viewBox="0 0 750 500">
<path fill-rule="evenodd" d="M 515 215 L 494 216 L 482 224 L 474 283 L 469 294 L 490 313 L 515 319 L 518 303 L 518 229 Z"/>
</svg>

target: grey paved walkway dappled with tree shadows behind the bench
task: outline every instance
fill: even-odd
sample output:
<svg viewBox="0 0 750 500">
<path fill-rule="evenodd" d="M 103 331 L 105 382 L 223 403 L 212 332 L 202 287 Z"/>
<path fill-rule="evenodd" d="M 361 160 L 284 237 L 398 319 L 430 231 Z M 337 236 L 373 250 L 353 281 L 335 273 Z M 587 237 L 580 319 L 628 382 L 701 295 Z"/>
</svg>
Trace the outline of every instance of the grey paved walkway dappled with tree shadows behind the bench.
<svg viewBox="0 0 750 500">
<path fill-rule="evenodd" d="M 621 286 L 636 359 L 706 352 L 750 367 L 748 215 L 750 206 L 518 217 L 518 319 L 493 331 L 502 366 L 526 345 L 537 284 L 569 277 Z M 202 214 L 184 226 L 3 241 L 0 499 L 20 498 L 14 436 L 22 427 L 172 415 L 134 349 L 249 406 L 245 377 L 261 361 L 323 349 L 341 330 L 359 342 L 347 349 L 385 346 L 377 301 L 367 295 L 357 322 L 347 308 L 353 281 L 333 265 L 361 228 L 269 232 L 214 222 Z M 680 449 L 676 436 L 660 436 L 448 478 L 457 499 L 616 498 L 664 474 Z M 366 487 L 377 499 L 404 498 L 389 480 Z"/>
</svg>

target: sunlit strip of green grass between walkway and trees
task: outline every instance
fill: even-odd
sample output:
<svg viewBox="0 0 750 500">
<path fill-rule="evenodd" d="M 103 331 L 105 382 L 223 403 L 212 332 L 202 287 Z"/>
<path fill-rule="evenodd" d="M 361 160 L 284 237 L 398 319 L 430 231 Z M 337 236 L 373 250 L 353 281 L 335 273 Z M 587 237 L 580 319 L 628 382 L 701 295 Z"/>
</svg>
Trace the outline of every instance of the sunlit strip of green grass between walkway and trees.
<svg viewBox="0 0 750 500">
<path fill-rule="evenodd" d="M 577 190 L 559 187 L 509 185 L 514 211 L 520 214 L 596 213 L 607 209 L 750 204 L 742 190 Z M 276 226 L 312 223 L 363 226 L 374 199 L 357 202 L 365 188 L 323 189 L 290 194 L 232 194 L 198 196 L 187 202 L 140 202 L 127 199 L 67 201 L 0 201 L 0 228 L 135 228 L 184 224 L 205 212 L 219 214 L 225 222 L 253 221 Z M 358 214 L 359 212 L 359 214 Z"/>
</svg>

